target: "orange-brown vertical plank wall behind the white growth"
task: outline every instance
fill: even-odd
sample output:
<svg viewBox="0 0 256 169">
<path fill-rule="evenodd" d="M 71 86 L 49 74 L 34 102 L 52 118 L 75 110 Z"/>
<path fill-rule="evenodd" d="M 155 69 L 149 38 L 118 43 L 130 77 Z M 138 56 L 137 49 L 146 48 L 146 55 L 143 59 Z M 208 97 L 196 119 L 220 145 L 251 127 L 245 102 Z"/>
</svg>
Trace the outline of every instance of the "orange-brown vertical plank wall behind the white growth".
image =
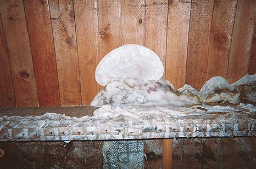
<svg viewBox="0 0 256 169">
<path fill-rule="evenodd" d="M 101 58 L 129 43 L 197 90 L 256 73 L 254 0 L 1 0 L 0 107 L 90 104 Z"/>
</svg>

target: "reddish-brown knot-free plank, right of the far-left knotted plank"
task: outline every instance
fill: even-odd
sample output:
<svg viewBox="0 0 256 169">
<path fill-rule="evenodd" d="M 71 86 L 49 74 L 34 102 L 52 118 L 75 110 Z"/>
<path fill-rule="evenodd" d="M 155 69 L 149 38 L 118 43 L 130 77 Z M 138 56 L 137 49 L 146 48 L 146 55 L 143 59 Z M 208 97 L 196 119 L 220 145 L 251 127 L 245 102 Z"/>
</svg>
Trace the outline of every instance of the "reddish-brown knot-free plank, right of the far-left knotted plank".
<svg viewBox="0 0 256 169">
<path fill-rule="evenodd" d="M 60 106 L 53 32 L 46 0 L 24 0 L 39 106 Z"/>
</svg>

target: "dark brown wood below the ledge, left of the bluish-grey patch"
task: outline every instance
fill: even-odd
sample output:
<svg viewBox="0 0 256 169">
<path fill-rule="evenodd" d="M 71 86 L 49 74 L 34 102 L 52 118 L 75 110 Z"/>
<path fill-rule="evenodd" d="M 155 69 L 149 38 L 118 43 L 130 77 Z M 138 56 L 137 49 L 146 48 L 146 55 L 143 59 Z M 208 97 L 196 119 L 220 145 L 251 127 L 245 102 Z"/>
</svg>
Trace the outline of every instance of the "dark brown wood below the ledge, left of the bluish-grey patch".
<svg viewBox="0 0 256 169">
<path fill-rule="evenodd" d="M 101 142 L 0 142 L 1 168 L 103 168 Z"/>
</svg>

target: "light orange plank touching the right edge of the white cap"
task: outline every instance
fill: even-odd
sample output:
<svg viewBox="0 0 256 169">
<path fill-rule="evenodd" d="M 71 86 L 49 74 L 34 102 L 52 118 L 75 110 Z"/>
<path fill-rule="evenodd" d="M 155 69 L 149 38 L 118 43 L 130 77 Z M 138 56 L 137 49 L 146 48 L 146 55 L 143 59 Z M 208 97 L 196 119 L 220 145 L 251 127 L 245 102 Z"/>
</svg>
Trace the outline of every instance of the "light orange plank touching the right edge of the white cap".
<svg viewBox="0 0 256 169">
<path fill-rule="evenodd" d="M 191 0 L 169 4 L 165 79 L 176 89 L 185 85 Z"/>
</svg>

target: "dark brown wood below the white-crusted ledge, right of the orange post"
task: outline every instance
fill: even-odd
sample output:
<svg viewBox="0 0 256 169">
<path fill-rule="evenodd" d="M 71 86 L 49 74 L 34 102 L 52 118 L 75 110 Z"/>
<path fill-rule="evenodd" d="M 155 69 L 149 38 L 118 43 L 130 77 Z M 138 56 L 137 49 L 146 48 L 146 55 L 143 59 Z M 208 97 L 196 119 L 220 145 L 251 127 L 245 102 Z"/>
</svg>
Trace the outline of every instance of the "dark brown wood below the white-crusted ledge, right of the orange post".
<svg viewBox="0 0 256 169">
<path fill-rule="evenodd" d="M 255 168 L 255 138 L 179 138 L 172 168 Z"/>
</svg>

